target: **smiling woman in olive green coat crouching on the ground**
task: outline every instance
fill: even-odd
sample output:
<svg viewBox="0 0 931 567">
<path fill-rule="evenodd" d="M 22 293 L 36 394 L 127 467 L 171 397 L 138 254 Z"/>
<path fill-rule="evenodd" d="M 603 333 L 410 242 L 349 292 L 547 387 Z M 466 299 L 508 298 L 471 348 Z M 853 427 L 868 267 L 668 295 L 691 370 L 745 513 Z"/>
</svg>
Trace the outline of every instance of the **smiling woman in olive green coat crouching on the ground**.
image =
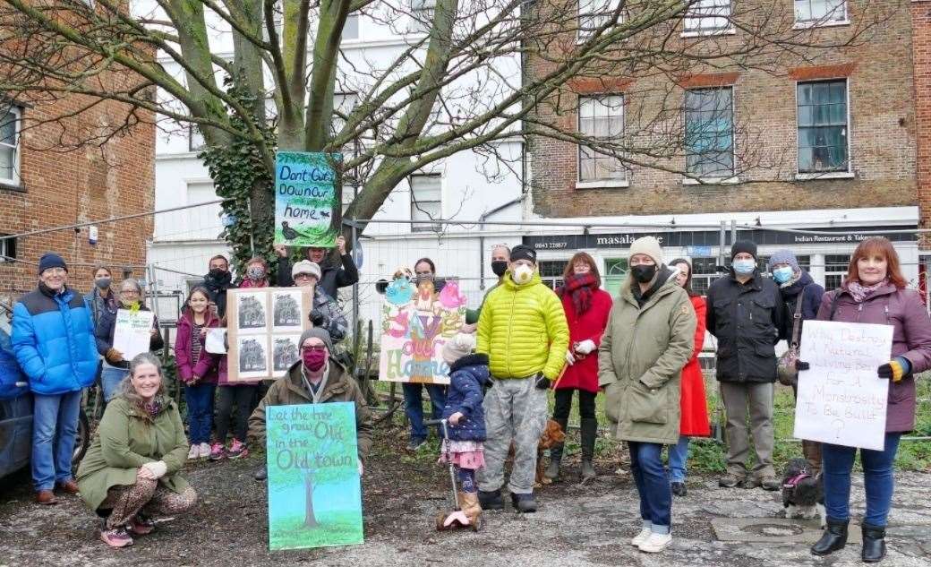
<svg viewBox="0 0 931 567">
<path fill-rule="evenodd" d="M 81 497 L 105 519 L 104 543 L 130 546 L 129 533 L 155 529 L 151 514 L 177 514 L 194 505 L 197 494 L 180 474 L 186 457 L 184 425 L 165 396 L 158 358 L 142 353 L 129 363 L 129 375 L 77 469 Z"/>
</svg>

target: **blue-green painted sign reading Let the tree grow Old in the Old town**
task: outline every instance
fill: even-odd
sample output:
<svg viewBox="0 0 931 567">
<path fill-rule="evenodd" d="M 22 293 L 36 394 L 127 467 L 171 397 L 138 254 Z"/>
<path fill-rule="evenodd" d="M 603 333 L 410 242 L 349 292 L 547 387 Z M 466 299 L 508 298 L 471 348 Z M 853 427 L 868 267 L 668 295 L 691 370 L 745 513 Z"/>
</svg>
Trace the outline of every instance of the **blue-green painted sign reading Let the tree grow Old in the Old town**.
<svg viewBox="0 0 931 567">
<path fill-rule="evenodd" d="M 362 543 L 356 405 L 269 406 L 268 547 Z"/>
</svg>

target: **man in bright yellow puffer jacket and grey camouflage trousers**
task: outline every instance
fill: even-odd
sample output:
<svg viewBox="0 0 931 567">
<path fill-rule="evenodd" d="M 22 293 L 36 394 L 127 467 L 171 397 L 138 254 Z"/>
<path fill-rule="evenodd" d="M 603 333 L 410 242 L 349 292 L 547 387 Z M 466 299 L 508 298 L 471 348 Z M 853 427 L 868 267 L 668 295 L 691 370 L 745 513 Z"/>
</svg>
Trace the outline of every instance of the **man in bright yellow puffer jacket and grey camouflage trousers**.
<svg viewBox="0 0 931 567">
<path fill-rule="evenodd" d="M 536 271 L 536 250 L 519 245 L 501 284 L 481 308 L 478 346 L 488 355 L 494 385 L 485 395 L 485 467 L 479 469 L 479 501 L 501 509 L 505 459 L 514 441 L 507 488 L 520 512 L 535 512 L 536 446 L 546 427 L 546 390 L 560 375 L 569 351 L 562 303 Z"/>
</svg>

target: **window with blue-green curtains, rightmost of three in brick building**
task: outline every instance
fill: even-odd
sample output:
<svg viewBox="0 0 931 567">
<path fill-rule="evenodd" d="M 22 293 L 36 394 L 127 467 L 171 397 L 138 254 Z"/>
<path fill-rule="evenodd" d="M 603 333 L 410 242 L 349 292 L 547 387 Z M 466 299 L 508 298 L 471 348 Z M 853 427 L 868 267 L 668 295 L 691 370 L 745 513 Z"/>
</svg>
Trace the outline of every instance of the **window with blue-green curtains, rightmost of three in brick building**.
<svg viewBox="0 0 931 567">
<path fill-rule="evenodd" d="M 847 171 L 847 81 L 799 83 L 799 172 Z"/>
</svg>

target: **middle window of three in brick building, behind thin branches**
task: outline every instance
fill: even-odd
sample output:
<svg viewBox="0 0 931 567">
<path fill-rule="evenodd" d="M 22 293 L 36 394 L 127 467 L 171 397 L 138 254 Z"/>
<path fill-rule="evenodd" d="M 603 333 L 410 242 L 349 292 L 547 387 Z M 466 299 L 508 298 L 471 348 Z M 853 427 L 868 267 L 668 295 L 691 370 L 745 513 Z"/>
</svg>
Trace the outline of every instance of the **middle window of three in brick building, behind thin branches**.
<svg viewBox="0 0 931 567">
<path fill-rule="evenodd" d="M 685 170 L 699 178 L 734 175 L 734 89 L 685 91 Z"/>
</svg>

